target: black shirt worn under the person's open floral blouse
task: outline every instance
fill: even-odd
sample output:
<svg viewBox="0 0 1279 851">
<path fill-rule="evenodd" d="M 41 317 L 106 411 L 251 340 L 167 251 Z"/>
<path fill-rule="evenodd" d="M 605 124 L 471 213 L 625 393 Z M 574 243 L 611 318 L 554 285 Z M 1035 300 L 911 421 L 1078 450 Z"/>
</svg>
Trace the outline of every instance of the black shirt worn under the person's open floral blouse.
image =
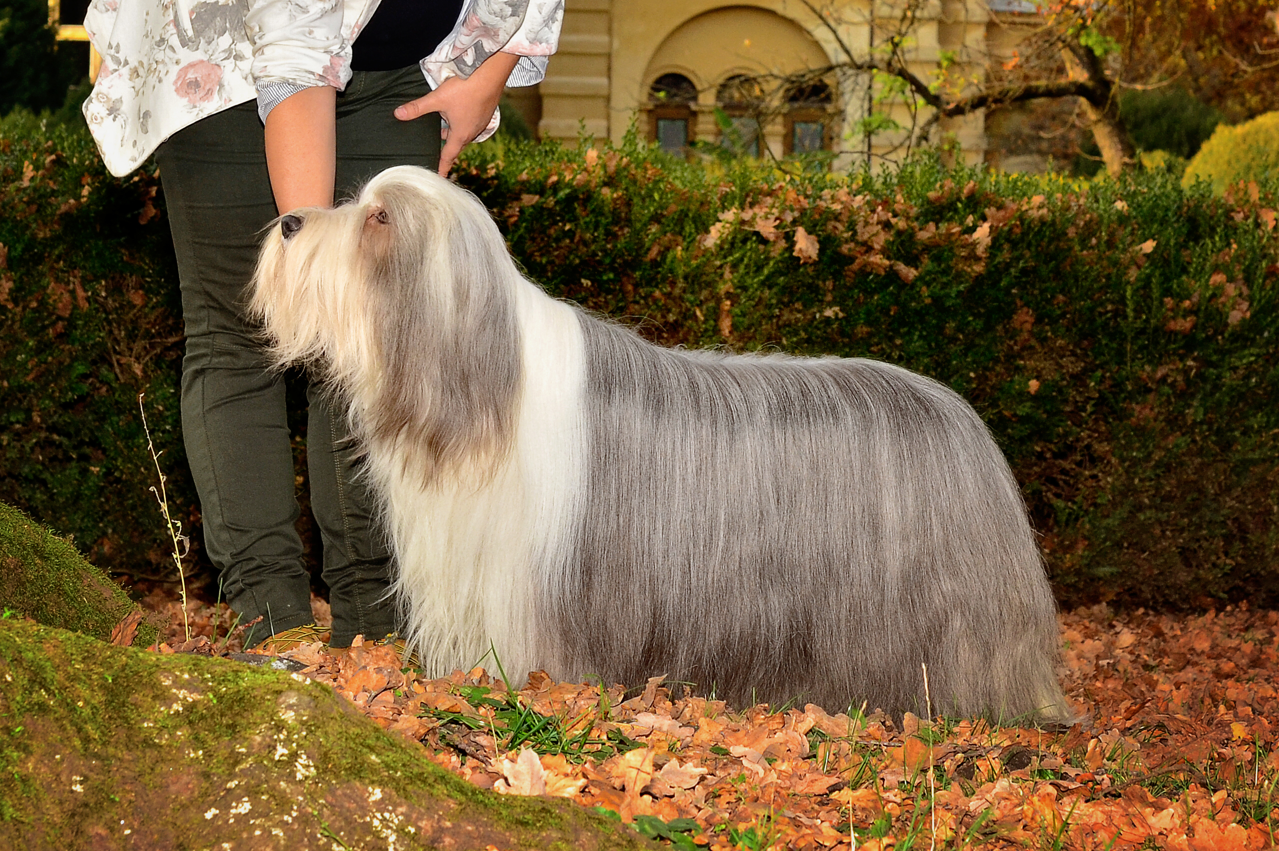
<svg viewBox="0 0 1279 851">
<path fill-rule="evenodd" d="M 352 45 L 352 70 L 396 70 L 418 64 L 450 32 L 462 0 L 382 0 Z"/>
</svg>

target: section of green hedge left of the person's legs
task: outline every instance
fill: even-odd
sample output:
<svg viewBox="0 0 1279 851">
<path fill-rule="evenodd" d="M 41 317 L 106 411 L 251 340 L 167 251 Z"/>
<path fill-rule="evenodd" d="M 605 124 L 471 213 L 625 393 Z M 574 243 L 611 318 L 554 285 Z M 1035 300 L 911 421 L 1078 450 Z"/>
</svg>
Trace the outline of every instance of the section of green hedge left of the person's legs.
<svg viewBox="0 0 1279 851">
<path fill-rule="evenodd" d="M 22 111 L 0 121 L 0 501 L 72 534 L 104 567 L 166 574 L 139 392 L 187 526 L 196 500 L 157 187 L 153 170 L 106 174 L 83 126 Z"/>
</svg>

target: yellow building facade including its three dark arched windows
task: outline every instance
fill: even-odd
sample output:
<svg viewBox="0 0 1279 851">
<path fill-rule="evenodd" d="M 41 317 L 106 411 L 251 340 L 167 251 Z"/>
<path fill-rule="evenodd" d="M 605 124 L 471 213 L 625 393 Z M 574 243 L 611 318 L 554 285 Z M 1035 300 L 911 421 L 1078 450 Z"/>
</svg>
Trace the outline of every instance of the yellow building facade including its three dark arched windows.
<svg viewBox="0 0 1279 851">
<path fill-rule="evenodd" d="M 927 110 L 912 116 L 871 74 L 819 72 L 847 66 L 848 51 L 883 50 L 899 28 L 900 1 L 568 0 L 546 79 L 512 95 L 541 138 L 576 142 L 585 132 L 620 142 L 636 121 L 671 151 L 701 141 L 751 153 L 766 146 L 779 157 L 825 150 L 895 158 Z M 1012 55 L 1033 9 L 1024 0 L 929 0 L 909 28 L 911 68 L 943 84 L 980 82 L 989 63 Z M 871 114 L 880 118 L 868 125 Z M 991 158 L 982 112 L 940 121 L 938 138 L 968 162 Z"/>
</svg>

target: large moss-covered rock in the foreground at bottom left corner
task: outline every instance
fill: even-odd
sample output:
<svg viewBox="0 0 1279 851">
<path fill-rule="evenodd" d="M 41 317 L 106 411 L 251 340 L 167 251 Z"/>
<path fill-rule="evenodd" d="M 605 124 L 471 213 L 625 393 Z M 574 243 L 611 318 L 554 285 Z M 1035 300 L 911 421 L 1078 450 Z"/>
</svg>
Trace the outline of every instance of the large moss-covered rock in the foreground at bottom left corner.
<svg viewBox="0 0 1279 851">
<path fill-rule="evenodd" d="M 301 675 L 0 620 L 0 847 L 643 848 L 454 777 Z"/>
</svg>

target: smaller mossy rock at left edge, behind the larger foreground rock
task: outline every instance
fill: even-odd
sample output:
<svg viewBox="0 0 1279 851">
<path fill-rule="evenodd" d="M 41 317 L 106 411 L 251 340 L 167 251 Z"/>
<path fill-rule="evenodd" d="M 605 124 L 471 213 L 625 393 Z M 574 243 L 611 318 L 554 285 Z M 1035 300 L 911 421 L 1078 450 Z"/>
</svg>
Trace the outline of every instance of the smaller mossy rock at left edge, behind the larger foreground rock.
<svg viewBox="0 0 1279 851">
<path fill-rule="evenodd" d="M 120 620 L 138 610 L 110 576 L 84 561 L 75 546 L 18 509 L 0 502 L 0 607 L 45 624 L 109 639 Z M 148 616 L 134 644 L 159 635 Z"/>
</svg>

